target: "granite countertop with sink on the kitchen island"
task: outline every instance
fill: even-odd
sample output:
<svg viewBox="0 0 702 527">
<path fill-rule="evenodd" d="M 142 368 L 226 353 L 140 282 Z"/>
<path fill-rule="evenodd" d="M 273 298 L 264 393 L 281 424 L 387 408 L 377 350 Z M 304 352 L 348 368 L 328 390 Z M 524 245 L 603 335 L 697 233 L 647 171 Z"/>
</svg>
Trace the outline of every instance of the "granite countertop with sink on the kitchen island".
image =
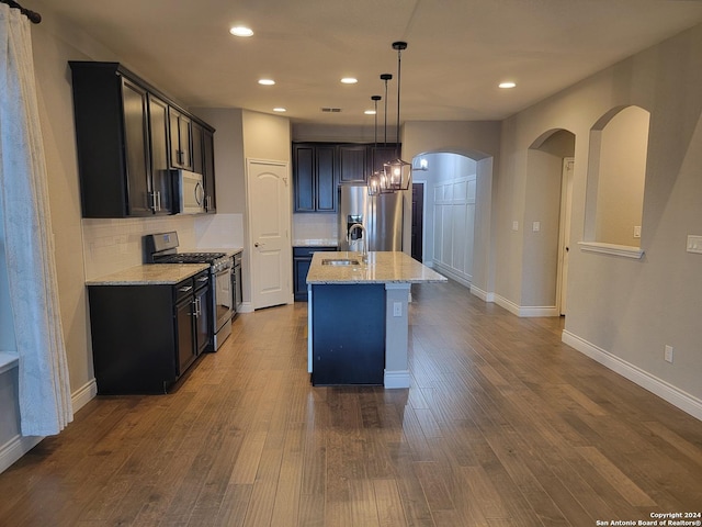
<svg viewBox="0 0 702 527">
<path fill-rule="evenodd" d="M 359 260 L 358 266 L 325 266 L 325 259 Z M 315 253 L 307 283 L 422 283 L 445 282 L 446 278 L 399 251 L 371 251 L 369 262 L 361 264 L 361 253 Z"/>
</svg>

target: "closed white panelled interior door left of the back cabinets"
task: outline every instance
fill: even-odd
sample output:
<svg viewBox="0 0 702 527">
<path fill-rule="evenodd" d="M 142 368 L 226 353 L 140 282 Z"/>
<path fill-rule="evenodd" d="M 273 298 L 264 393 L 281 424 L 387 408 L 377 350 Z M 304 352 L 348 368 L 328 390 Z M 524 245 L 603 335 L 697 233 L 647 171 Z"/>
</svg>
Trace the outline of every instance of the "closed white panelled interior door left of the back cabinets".
<svg viewBox="0 0 702 527">
<path fill-rule="evenodd" d="M 248 159 L 247 183 L 251 303 L 254 310 L 292 303 L 287 164 Z"/>
</svg>

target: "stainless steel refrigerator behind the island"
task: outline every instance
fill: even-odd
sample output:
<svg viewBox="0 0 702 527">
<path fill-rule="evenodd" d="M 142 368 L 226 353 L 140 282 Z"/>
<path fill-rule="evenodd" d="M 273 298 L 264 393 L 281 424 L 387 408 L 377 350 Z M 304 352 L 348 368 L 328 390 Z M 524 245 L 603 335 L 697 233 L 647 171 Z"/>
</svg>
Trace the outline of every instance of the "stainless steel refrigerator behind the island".
<svg viewBox="0 0 702 527">
<path fill-rule="evenodd" d="M 355 228 L 351 244 L 347 242 L 354 223 L 365 227 L 367 250 L 403 250 L 403 193 L 369 195 L 365 186 L 339 187 L 339 249 L 361 250 L 362 231 Z"/>
</svg>

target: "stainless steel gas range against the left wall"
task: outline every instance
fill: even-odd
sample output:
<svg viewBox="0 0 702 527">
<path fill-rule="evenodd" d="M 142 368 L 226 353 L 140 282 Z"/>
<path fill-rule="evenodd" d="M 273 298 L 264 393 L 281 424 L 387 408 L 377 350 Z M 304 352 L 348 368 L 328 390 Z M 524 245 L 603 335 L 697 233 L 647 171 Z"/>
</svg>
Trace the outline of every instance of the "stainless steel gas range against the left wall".
<svg viewBox="0 0 702 527">
<path fill-rule="evenodd" d="M 213 321 L 212 350 L 216 351 L 231 334 L 234 292 L 231 291 L 233 260 L 226 253 L 178 253 L 178 233 L 148 234 L 144 236 L 147 264 L 210 264 Z"/>
</svg>

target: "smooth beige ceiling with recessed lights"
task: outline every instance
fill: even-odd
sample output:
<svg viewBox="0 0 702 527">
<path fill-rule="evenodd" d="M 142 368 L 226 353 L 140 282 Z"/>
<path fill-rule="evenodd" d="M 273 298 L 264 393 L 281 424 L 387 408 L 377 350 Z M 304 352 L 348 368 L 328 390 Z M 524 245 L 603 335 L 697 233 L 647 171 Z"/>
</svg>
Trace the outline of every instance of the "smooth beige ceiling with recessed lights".
<svg viewBox="0 0 702 527">
<path fill-rule="evenodd" d="M 294 123 L 501 120 L 702 22 L 695 0 L 23 0 L 181 104 L 287 109 Z M 228 33 L 245 24 L 249 38 Z M 104 57 L 104 58 L 114 58 Z M 103 58 L 103 57 L 97 57 Z M 272 78 L 262 87 L 258 79 Z M 356 77 L 352 86 L 342 77 Z M 498 88 L 517 82 L 511 90 Z M 341 109 L 338 113 L 321 108 Z M 378 106 L 383 119 L 383 102 Z"/>
</svg>

